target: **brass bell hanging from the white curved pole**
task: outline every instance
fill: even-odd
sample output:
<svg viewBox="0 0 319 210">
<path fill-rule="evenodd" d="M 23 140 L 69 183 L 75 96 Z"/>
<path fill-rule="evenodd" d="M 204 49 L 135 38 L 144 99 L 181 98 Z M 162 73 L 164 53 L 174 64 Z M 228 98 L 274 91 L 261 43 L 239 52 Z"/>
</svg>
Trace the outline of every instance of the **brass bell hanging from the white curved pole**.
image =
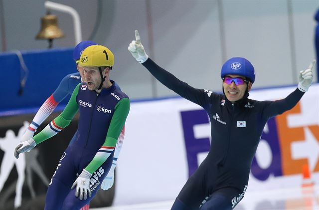
<svg viewBox="0 0 319 210">
<path fill-rule="evenodd" d="M 36 35 L 36 39 L 54 39 L 64 37 L 64 33 L 59 28 L 57 17 L 54 14 L 47 14 L 41 17 L 41 29 Z"/>
</svg>

